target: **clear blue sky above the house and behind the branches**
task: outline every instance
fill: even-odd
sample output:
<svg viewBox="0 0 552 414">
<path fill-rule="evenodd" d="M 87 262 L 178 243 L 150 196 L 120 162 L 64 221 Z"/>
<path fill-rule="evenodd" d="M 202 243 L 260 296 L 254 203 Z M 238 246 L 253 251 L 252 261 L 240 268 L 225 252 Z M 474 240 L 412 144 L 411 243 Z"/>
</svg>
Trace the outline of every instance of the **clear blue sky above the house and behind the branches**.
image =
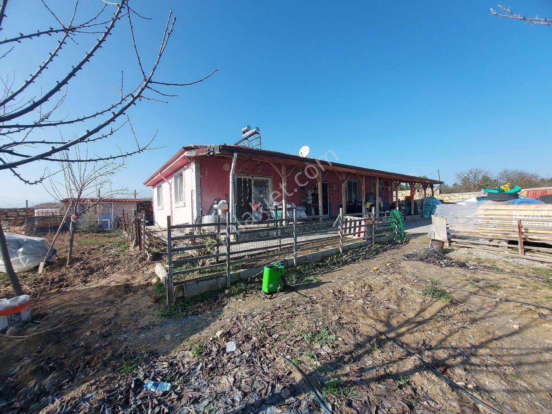
<svg viewBox="0 0 552 414">
<path fill-rule="evenodd" d="M 68 18 L 71 3 L 56 2 L 56 10 Z M 103 4 L 82 3 L 77 20 Z M 449 184 L 455 171 L 472 166 L 552 176 L 552 27 L 492 17 L 496 0 L 132 4 L 153 18 L 135 19 L 147 67 L 168 10 L 177 17 L 158 80 L 187 82 L 215 68 L 219 72 L 203 83 L 173 89 L 179 96 L 168 104 L 142 102 L 132 108 L 139 139 L 157 130 L 155 144 L 164 148 L 130 158 L 115 187 L 147 194 L 141 183 L 179 147 L 232 144 L 246 124 L 261 128 L 266 149 L 297 153 L 309 145 L 313 156 L 332 150 L 343 163 L 413 175 L 439 169 Z M 552 17 L 548 1 L 508 5 Z M 2 37 L 55 23 L 35 0 L 10 1 L 7 15 Z M 93 39 L 87 39 L 80 49 L 68 45 L 50 75 L 74 65 L 91 45 Z M 18 84 L 45 59 L 53 41 L 18 45 L 0 65 L 0 75 L 15 75 Z M 136 80 L 128 26 L 119 24 L 109 42 L 70 83 L 65 114 L 82 116 L 113 102 L 110 83 L 120 84 L 121 70 L 129 88 Z M 134 138 L 125 130 L 115 140 L 127 148 Z M 113 143 L 100 142 L 90 150 L 105 155 Z M 20 172 L 32 177 L 44 167 L 40 163 Z M 0 204 L 51 198 L 41 186 L 0 174 L 2 187 L 10 189 L 6 197 L 2 192 Z"/>
</svg>

